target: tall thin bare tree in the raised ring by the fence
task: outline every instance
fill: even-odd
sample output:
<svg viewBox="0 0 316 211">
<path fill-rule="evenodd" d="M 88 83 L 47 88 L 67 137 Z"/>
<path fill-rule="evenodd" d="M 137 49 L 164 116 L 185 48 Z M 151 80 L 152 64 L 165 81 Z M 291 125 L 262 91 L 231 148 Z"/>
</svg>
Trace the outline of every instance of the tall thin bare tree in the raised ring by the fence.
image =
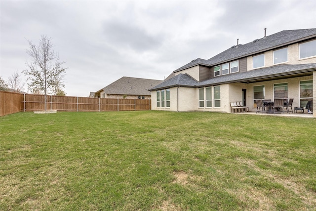
<svg viewBox="0 0 316 211">
<path fill-rule="evenodd" d="M 23 73 L 28 77 L 28 86 L 32 90 L 40 89 L 45 95 L 45 110 L 47 93 L 52 91 L 53 86 L 56 84 L 56 79 L 60 78 L 65 72 L 66 68 L 62 65 L 65 62 L 59 62 L 59 56 L 53 50 L 51 38 L 42 35 L 39 45 L 29 42 L 29 49 L 26 50 L 27 54 L 32 57 L 32 61 L 27 62 L 28 69 Z M 61 84 L 59 84 L 61 85 Z"/>
</svg>

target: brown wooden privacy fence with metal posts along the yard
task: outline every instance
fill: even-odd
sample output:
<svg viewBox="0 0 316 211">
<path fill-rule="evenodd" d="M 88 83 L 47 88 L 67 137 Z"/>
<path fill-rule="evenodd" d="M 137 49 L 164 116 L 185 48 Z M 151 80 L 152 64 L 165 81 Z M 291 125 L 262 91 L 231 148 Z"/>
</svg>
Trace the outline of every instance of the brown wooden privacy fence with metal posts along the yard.
<svg viewBox="0 0 316 211">
<path fill-rule="evenodd" d="M 45 96 L 0 92 L 1 116 L 19 111 L 45 110 Z M 3 101 L 3 103 L 2 103 Z M 4 108 L 4 109 L 2 109 Z M 47 95 L 46 109 L 57 111 L 139 111 L 151 110 L 150 99 L 110 99 Z M 5 110 L 5 112 L 2 112 Z"/>
</svg>

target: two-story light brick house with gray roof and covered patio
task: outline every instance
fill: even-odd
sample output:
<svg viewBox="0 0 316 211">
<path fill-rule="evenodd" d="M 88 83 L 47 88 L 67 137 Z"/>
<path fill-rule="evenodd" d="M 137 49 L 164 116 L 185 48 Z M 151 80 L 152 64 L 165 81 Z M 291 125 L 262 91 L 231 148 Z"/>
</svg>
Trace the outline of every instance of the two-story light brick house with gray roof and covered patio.
<svg viewBox="0 0 316 211">
<path fill-rule="evenodd" d="M 174 74 L 151 89 L 153 110 L 231 112 L 230 102 L 242 101 L 256 111 L 256 99 L 277 98 L 293 98 L 293 107 L 305 107 L 316 100 L 316 29 L 237 44 Z"/>
</svg>

